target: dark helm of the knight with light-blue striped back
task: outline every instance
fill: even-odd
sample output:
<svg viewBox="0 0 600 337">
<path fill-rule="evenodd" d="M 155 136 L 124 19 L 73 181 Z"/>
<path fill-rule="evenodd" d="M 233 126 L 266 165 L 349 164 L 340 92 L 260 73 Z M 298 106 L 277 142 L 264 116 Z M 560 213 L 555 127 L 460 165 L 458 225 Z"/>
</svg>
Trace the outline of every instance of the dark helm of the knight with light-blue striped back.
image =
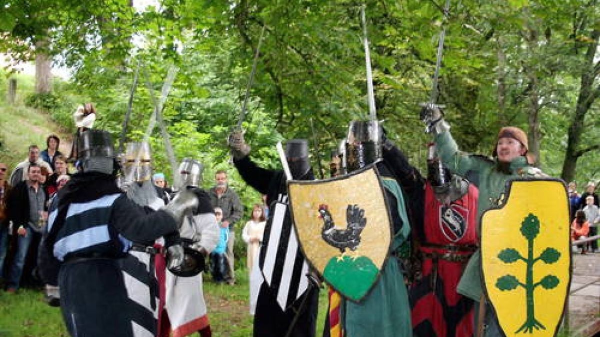
<svg viewBox="0 0 600 337">
<path fill-rule="evenodd" d="M 108 131 L 89 129 L 79 137 L 80 165 L 84 172 L 100 172 L 113 174 L 115 172 L 115 148 Z"/>
</svg>

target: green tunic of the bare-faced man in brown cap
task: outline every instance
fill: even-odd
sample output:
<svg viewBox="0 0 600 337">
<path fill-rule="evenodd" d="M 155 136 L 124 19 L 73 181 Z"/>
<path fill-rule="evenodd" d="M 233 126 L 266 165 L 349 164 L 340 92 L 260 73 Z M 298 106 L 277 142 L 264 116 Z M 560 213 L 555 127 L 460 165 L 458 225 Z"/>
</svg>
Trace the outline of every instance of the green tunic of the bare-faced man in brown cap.
<svg viewBox="0 0 600 337">
<path fill-rule="evenodd" d="M 477 219 L 485 210 L 502 203 L 506 195 L 506 184 L 515 177 L 542 176 L 543 173 L 536 167 L 527 164 L 525 157 L 518 157 L 508 166 L 500 170 L 496 160 L 490 160 L 481 155 L 466 154 L 458 150 L 458 146 L 449 131 L 437 134 L 435 137 L 437 152 L 449 170 L 464 176 L 468 171 L 475 171 L 479 175 L 479 198 L 477 206 Z M 476 227 L 478 237 L 480 224 Z M 458 293 L 479 302 L 482 294 L 481 285 L 481 253 L 472 255 L 464 269 L 463 276 L 458 283 Z"/>
</svg>

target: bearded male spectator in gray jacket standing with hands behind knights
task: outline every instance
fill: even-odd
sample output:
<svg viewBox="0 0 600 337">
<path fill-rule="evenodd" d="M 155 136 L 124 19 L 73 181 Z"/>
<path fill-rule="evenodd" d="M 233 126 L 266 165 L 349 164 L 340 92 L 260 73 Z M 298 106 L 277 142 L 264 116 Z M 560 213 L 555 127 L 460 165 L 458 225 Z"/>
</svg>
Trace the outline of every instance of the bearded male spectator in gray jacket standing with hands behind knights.
<svg viewBox="0 0 600 337">
<path fill-rule="evenodd" d="M 239 201 L 238 194 L 227 185 L 227 172 L 219 170 L 215 173 L 215 186 L 208 191 L 211 197 L 212 207 L 223 209 L 223 224 L 229 225 L 229 240 L 227 241 L 227 283 L 235 283 L 235 273 L 233 272 L 233 242 L 235 241 L 235 223 L 242 218 L 244 207 Z"/>
</svg>

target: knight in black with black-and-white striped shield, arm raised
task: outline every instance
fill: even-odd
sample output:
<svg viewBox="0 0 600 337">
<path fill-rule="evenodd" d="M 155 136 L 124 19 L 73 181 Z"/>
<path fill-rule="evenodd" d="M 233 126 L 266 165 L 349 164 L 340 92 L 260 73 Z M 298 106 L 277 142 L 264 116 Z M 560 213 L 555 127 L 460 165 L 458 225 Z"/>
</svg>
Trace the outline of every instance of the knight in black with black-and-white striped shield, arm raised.
<svg viewBox="0 0 600 337">
<path fill-rule="evenodd" d="M 259 268 L 262 269 L 262 276 L 264 276 L 264 278 L 254 277 L 260 279 L 262 284 L 251 285 L 251 287 L 260 287 L 254 314 L 254 336 L 315 336 L 319 300 L 317 281 L 314 276 L 307 275 L 308 264 L 298 245 L 296 244 L 296 254 L 292 259 L 286 259 L 285 256 L 288 245 L 282 245 L 282 242 L 290 240 L 293 232 L 284 171 L 268 170 L 257 166 L 248 155 L 250 146 L 244 142 L 241 131 L 232 133 L 229 146 L 233 163 L 239 174 L 248 185 L 261 194 L 267 195 L 266 202 L 269 205 L 269 217 L 259 251 L 259 263 L 254 264 L 255 268 L 250 276 L 253 279 L 253 275 L 259 274 Z M 308 161 L 306 140 L 286 142 L 285 152 L 293 179 L 314 179 Z M 274 228 L 281 229 L 280 236 L 275 237 L 275 232 L 278 231 Z M 277 250 L 277 254 L 266 255 L 269 240 L 279 240 L 280 249 Z M 274 263 L 270 272 L 263 268 L 269 261 Z M 289 282 L 282 281 L 284 269 L 293 271 Z M 265 278 L 268 278 L 269 282 Z M 286 299 L 283 305 L 281 301 L 278 302 L 282 297 Z"/>
</svg>

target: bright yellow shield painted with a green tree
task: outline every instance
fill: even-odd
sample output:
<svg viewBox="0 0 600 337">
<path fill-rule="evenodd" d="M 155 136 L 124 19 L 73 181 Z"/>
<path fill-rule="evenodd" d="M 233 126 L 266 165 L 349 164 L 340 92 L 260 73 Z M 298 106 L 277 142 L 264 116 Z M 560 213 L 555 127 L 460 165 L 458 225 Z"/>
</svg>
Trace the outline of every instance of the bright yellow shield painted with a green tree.
<svg viewBox="0 0 600 337">
<path fill-rule="evenodd" d="M 481 217 L 485 293 L 506 336 L 554 336 L 571 282 L 568 195 L 559 179 L 508 183 Z"/>
</svg>

